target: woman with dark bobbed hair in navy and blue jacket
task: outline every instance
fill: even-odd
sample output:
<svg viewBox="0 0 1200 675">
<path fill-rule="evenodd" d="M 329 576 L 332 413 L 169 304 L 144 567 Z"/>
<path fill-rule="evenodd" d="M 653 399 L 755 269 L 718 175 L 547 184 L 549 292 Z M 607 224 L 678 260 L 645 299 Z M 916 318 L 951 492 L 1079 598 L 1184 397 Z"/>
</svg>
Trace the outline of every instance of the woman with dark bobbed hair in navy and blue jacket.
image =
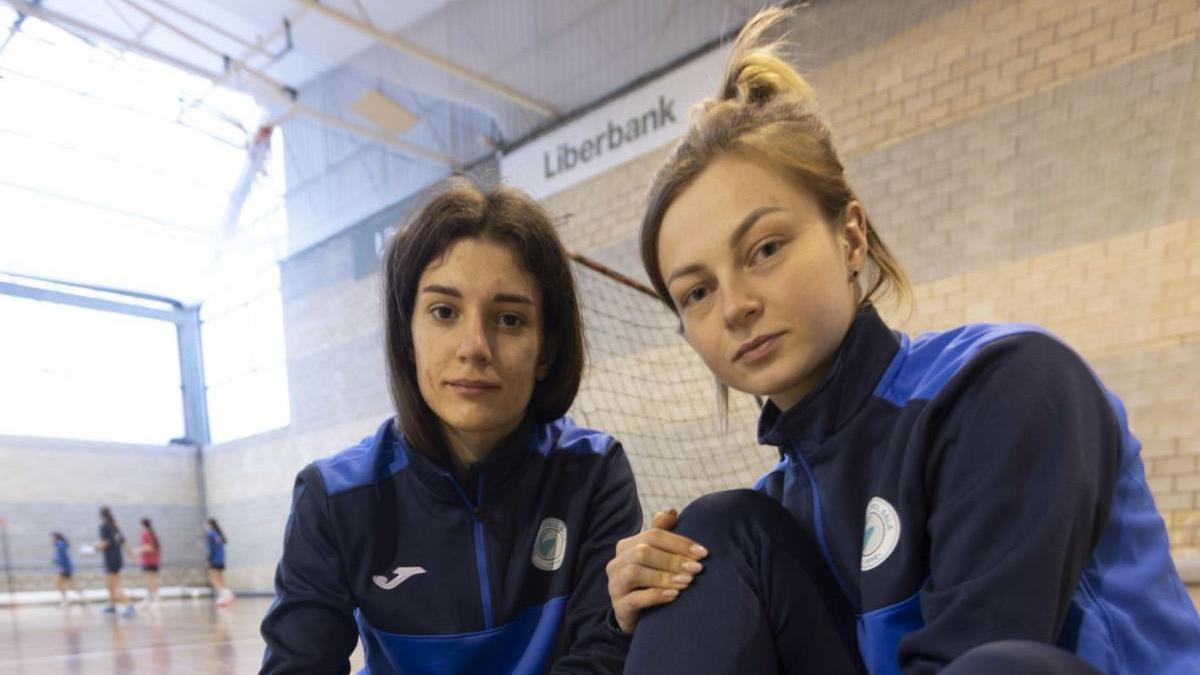
<svg viewBox="0 0 1200 675">
<path fill-rule="evenodd" d="M 389 245 L 396 417 L 296 480 L 263 673 L 619 673 L 604 566 L 641 526 L 620 444 L 564 417 L 569 261 L 524 195 L 458 181 Z"/>
</svg>

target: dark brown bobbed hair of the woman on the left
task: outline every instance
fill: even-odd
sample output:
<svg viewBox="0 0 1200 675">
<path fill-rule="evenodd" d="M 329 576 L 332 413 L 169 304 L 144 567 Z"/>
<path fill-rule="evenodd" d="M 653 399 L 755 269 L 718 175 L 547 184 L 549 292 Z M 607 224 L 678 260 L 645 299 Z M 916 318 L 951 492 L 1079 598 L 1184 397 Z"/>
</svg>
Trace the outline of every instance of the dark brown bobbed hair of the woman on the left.
<svg viewBox="0 0 1200 675">
<path fill-rule="evenodd" d="M 542 350 L 553 345 L 553 363 L 534 384 L 526 414 L 551 422 L 566 413 L 583 377 L 586 348 L 575 279 L 550 215 L 511 187 L 480 191 L 451 179 L 388 244 L 384 256 L 384 333 L 388 384 L 396 422 L 408 444 L 440 460 L 449 448 L 442 423 L 421 396 L 413 348 L 413 306 L 421 274 L 460 239 L 484 239 L 508 246 L 541 289 Z"/>
</svg>

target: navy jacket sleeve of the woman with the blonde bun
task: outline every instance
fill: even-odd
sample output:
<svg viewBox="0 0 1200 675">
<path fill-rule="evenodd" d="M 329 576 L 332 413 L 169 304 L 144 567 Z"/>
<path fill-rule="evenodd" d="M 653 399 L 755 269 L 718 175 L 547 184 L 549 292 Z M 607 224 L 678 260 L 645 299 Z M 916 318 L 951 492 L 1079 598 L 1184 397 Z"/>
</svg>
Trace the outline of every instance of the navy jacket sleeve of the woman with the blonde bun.
<svg viewBox="0 0 1200 675">
<path fill-rule="evenodd" d="M 1050 336 L 982 350 L 930 402 L 930 578 L 905 673 L 995 640 L 1054 644 L 1111 508 L 1122 430 L 1086 364 Z"/>
</svg>

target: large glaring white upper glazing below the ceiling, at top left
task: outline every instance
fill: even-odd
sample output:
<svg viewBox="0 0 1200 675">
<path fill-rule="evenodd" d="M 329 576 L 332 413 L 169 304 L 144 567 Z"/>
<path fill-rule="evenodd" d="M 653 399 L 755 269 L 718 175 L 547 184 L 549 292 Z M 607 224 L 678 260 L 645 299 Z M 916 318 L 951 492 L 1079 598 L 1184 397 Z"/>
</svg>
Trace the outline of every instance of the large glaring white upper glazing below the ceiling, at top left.
<svg viewBox="0 0 1200 675">
<path fill-rule="evenodd" d="M 278 259 L 282 131 L 256 167 L 252 96 L 14 18 L 0 6 L 0 271 L 197 304 Z"/>
</svg>

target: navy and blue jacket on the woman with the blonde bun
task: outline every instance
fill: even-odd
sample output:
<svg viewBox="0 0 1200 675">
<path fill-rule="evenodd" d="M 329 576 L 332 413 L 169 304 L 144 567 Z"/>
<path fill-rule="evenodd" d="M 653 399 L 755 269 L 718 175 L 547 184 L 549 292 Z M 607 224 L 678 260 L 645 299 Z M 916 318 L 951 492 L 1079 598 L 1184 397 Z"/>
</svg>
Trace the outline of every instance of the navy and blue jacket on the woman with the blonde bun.
<svg viewBox="0 0 1200 675">
<path fill-rule="evenodd" d="M 757 489 L 817 540 L 872 674 L 934 673 L 983 643 L 1057 644 L 1106 673 L 1200 673 L 1126 413 L 1030 325 L 910 340 L 863 310 L 830 375 L 760 441 Z"/>
</svg>

